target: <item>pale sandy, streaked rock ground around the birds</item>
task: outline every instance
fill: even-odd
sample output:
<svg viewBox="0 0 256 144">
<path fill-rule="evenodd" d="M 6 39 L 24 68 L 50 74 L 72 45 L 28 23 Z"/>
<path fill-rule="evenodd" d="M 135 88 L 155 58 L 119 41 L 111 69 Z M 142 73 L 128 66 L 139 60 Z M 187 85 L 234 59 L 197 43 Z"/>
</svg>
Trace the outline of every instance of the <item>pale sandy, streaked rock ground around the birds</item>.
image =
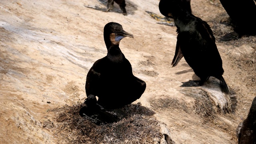
<svg viewBox="0 0 256 144">
<path fill-rule="evenodd" d="M 214 118 L 204 120 L 193 110 L 177 106 L 155 108 L 152 103 L 159 99 L 176 99 L 189 105 L 194 98 L 187 96 L 186 90 L 191 93 L 207 89 L 213 85 L 211 81 L 218 82 L 213 78 L 202 88 L 180 87 L 196 76 L 184 58 L 172 68 L 176 27 L 156 24 L 157 20 L 145 12 L 161 15 L 158 3 L 126 0 L 128 15 L 124 16 L 116 4 L 112 12 L 84 6 L 102 6 L 97 0 L 1 0 L 1 143 L 61 143 L 43 127 L 50 118 L 48 110 L 83 102 L 86 74 L 107 53 L 103 28 L 108 22 L 118 22 L 134 35 L 133 39 L 124 38 L 120 48 L 132 64 L 134 75 L 147 84 L 136 102 L 156 111 L 155 117 L 167 125 L 172 140 L 177 144 L 236 144 L 236 127 L 248 114 L 256 90 L 255 77 L 248 78 L 248 72 L 235 63 L 255 53 L 255 45 L 216 42 L 223 76 L 233 94 L 232 113 L 215 113 Z M 191 2 L 193 14 L 212 27 L 216 17 L 228 17 L 219 1 L 213 3 Z M 215 90 L 220 92 L 216 85 Z"/>
</svg>

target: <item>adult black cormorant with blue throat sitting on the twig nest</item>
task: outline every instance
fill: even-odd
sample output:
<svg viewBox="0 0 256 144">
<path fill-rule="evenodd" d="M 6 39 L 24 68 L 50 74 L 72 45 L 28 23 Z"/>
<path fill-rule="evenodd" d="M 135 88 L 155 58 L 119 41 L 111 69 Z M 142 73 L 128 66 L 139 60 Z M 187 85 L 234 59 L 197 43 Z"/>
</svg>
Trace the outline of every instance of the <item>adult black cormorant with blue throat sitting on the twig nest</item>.
<svg viewBox="0 0 256 144">
<path fill-rule="evenodd" d="M 126 36 L 133 38 L 118 23 L 110 22 L 104 27 L 108 54 L 97 60 L 87 74 L 86 104 L 95 104 L 98 96 L 98 105 L 115 109 L 131 104 L 144 93 L 146 83 L 133 75 L 130 62 L 119 48 L 120 40 Z"/>
</svg>

